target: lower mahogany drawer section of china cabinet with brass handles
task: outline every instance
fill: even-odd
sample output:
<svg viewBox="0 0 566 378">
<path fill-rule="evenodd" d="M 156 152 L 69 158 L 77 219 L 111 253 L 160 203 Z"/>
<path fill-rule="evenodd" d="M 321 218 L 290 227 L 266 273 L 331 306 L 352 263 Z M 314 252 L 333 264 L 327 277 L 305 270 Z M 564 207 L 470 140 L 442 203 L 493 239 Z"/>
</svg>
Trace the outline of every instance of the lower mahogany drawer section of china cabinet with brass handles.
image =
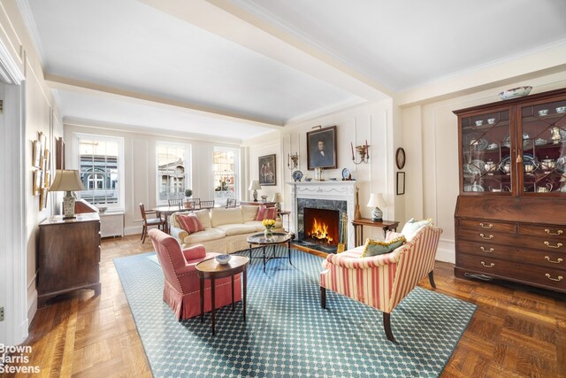
<svg viewBox="0 0 566 378">
<path fill-rule="evenodd" d="M 566 292 L 566 227 L 550 222 L 533 224 L 520 218 L 493 220 L 457 214 L 455 274 Z"/>
</svg>

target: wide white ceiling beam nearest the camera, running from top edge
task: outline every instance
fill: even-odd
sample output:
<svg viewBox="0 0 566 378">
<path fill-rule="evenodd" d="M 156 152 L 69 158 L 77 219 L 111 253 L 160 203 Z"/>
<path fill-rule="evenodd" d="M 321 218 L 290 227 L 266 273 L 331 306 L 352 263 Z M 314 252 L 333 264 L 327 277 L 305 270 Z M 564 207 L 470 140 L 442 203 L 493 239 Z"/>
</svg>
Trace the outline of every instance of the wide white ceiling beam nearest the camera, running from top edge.
<svg viewBox="0 0 566 378">
<path fill-rule="evenodd" d="M 138 0 L 367 101 L 394 91 L 228 0 Z"/>
</svg>

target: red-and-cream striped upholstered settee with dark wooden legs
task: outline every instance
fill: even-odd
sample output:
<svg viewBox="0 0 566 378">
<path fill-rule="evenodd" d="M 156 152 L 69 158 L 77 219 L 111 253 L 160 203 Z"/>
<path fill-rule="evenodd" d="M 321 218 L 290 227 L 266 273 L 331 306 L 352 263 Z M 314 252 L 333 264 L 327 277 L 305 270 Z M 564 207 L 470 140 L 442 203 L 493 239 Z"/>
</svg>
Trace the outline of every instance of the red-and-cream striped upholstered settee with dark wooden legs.
<svg viewBox="0 0 566 378">
<path fill-rule="evenodd" d="M 383 312 L 383 326 L 394 342 L 390 315 L 428 274 L 433 288 L 434 258 L 441 228 L 426 226 L 401 247 L 383 255 L 361 258 L 363 246 L 328 255 L 320 274 L 320 305 L 326 308 L 326 289 L 331 289 Z"/>
</svg>

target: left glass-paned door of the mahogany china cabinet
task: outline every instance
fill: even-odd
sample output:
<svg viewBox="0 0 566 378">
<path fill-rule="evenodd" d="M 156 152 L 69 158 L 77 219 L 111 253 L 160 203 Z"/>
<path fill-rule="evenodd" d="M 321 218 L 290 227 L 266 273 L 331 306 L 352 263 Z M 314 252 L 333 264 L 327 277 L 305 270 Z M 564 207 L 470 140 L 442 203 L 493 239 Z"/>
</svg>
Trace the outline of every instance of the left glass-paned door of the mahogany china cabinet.
<svg viewBox="0 0 566 378">
<path fill-rule="evenodd" d="M 509 110 L 462 119 L 463 192 L 511 195 Z"/>
</svg>

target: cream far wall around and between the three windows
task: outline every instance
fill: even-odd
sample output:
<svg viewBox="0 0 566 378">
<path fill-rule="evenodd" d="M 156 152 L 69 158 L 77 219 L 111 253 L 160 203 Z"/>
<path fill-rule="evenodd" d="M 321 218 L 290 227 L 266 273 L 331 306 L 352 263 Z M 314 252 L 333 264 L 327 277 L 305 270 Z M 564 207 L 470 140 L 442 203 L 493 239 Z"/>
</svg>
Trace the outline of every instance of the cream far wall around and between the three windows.
<svg viewBox="0 0 566 378">
<path fill-rule="evenodd" d="M 191 189 L 193 189 L 193 197 L 198 197 L 202 200 L 214 199 L 215 182 L 211 171 L 214 147 L 240 148 L 234 144 L 195 140 L 179 132 L 171 132 L 168 135 L 164 130 L 152 132 L 147 128 L 140 132 L 134 132 L 130 128 L 116 125 L 101 127 L 100 124 L 97 124 L 94 127 L 86 124 L 65 123 L 65 165 L 67 169 L 79 169 L 78 158 L 76 158 L 78 152 L 74 150 L 73 146 L 73 139 L 76 133 L 124 138 L 125 175 L 123 184 L 125 191 L 124 227 L 126 235 L 140 234 L 142 232 L 140 203 L 143 203 L 146 209 L 157 204 L 157 142 L 191 145 Z M 243 157 L 244 154 L 245 151 L 241 149 L 241 156 Z M 244 181 L 243 183 L 245 184 L 246 182 Z M 241 193 L 245 195 L 246 190 L 241 191 Z"/>
</svg>

